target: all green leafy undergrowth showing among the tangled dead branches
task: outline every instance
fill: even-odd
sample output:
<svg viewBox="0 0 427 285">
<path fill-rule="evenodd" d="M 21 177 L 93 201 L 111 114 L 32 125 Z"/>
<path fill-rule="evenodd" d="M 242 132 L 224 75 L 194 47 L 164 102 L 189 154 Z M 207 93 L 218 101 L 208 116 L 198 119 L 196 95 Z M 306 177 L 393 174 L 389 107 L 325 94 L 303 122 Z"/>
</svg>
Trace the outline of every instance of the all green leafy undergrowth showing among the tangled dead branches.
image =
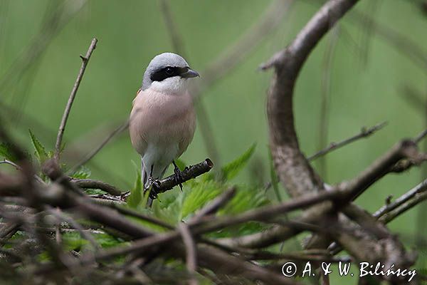
<svg viewBox="0 0 427 285">
<path fill-rule="evenodd" d="M 41 142 L 36 138 L 36 135 L 31 133 L 30 130 L 30 139 L 33 145 L 33 154 L 28 154 L 31 157 L 31 161 L 34 166 L 41 169 L 46 160 L 49 160 L 53 157 L 53 152 L 51 150 L 46 150 Z M 261 207 L 265 204 L 269 204 L 270 200 L 265 196 L 265 190 L 262 185 L 246 185 L 233 183 L 233 179 L 243 170 L 248 161 L 251 159 L 251 156 L 255 152 L 255 144 L 243 152 L 242 155 L 237 157 L 235 160 L 228 162 L 226 165 L 223 165 L 221 169 L 216 171 L 211 171 L 205 175 L 201 175 L 194 180 L 189 180 L 184 183 L 183 191 L 179 190 L 179 187 L 175 187 L 174 190 L 164 192 L 159 195 L 159 198 L 154 200 L 154 203 L 151 208 L 147 208 L 145 205 L 147 203 L 147 197 L 144 197 L 142 190 L 142 182 L 140 169 L 135 165 L 135 184 L 134 187 L 130 190 L 131 194 L 127 198 L 127 204 L 124 207 L 129 207 L 134 209 L 137 212 L 142 214 L 147 214 L 149 216 L 160 219 L 172 226 L 175 226 L 179 222 L 187 222 L 191 217 L 196 214 L 202 207 L 211 202 L 213 199 L 221 195 L 224 191 L 228 190 L 230 187 L 236 187 L 236 195 L 228 201 L 221 209 L 216 213 L 217 216 L 225 215 L 236 215 L 242 212 L 246 212 L 249 209 L 255 209 Z M 9 146 L 2 144 L 0 145 L 0 156 L 4 157 L 6 160 L 11 162 L 15 161 L 15 157 L 10 155 Z M 181 160 L 177 161 L 177 164 L 181 169 L 186 165 Z M 66 165 L 60 165 L 62 170 L 66 172 L 68 167 Z M 217 166 L 218 167 L 218 166 Z M 90 178 L 91 172 L 88 167 L 82 166 L 77 171 L 73 172 L 70 177 L 75 179 L 88 179 Z M 43 175 L 39 171 L 38 176 L 46 182 L 50 183 L 48 177 Z M 275 185 L 273 185 L 275 187 Z M 103 194 L 102 190 L 85 190 L 88 195 L 97 195 Z M 166 229 L 159 227 L 155 224 L 149 222 L 144 222 L 141 219 L 132 218 L 133 222 L 142 224 L 144 227 L 147 227 L 156 232 L 162 232 Z M 97 229 L 97 225 L 91 223 L 90 221 L 85 221 L 79 219 L 78 222 L 83 224 L 85 228 L 88 229 Z M 66 226 L 68 227 L 68 226 Z M 251 234 L 254 232 L 259 232 L 264 229 L 265 225 L 257 222 L 248 222 L 245 224 L 240 224 L 236 227 L 228 227 L 226 229 L 218 230 L 209 234 L 209 237 L 219 238 L 219 237 L 236 237 L 244 234 Z M 114 247 L 120 244 L 127 242 L 125 239 L 116 236 L 116 233 L 110 233 L 107 229 L 101 229 L 99 231 L 94 230 L 91 233 L 100 247 Z M 23 232 L 17 232 L 11 241 L 16 239 L 21 239 L 22 235 L 25 235 Z M 63 247 L 67 251 L 81 252 L 85 248 L 92 247 L 87 239 L 81 236 L 78 231 L 70 232 L 65 231 L 61 234 Z M 38 258 L 41 260 L 49 259 L 47 252 L 41 252 L 38 254 Z"/>
</svg>

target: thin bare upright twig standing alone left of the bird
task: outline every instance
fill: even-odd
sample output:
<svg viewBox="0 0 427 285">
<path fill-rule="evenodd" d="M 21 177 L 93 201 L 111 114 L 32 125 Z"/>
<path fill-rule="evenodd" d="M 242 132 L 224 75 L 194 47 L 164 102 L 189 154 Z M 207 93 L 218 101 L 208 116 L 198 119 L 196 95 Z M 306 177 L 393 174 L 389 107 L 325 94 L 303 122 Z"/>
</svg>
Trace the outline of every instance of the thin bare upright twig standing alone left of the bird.
<svg viewBox="0 0 427 285">
<path fill-rule="evenodd" d="M 65 106 L 63 118 L 60 121 L 60 125 L 59 125 L 58 136 L 56 137 L 56 144 L 55 144 L 56 160 L 59 159 L 60 147 L 61 147 L 61 143 L 62 143 L 64 131 L 65 131 L 65 125 L 67 124 L 68 115 L 70 115 L 71 106 L 73 105 L 74 98 L 75 98 L 75 95 L 77 94 L 77 90 L 78 90 L 78 87 L 80 86 L 80 82 L 82 81 L 83 75 L 85 74 L 86 66 L 88 66 L 90 56 L 92 56 L 92 53 L 96 48 L 96 43 L 97 43 L 97 39 L 93 38 L 88 48 L 88 51 L 86 52 L 86 55 L 80 56 L 80 58 L 82 59 L 82 66 L 80 67 L 78 76 L 75 79 L 73 89 L 71 90 L 70 97 L 68 98 L 68 103 Z"/>
</svg>

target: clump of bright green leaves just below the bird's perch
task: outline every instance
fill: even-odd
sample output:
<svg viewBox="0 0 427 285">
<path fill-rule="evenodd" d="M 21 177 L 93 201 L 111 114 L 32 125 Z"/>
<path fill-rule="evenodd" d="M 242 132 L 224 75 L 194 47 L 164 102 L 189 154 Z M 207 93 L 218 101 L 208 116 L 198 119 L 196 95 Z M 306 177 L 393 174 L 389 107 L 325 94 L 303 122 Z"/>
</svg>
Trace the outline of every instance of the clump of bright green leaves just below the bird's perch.
<svg viewBox="0 0 427 285">
<path fill-rule="evenodd" d="M 135 187 L 132 188 L 131 195 L 127 199 L 127 206 L 176 225 L 181 221 L 186 222 L 191 219 L 199 209 L 233 186 L 237 189 L 236 195 L 218 210 L 218 216 L 235 215 L 268 204 L 270 201 L 265 197 L 265 192 L 261 187 L 233 184 L 233 178 L 244 169 L 254 151 L 255 145 L 252 145 L 243 155 L 221 167 L 221 170 L 201 175 L 195 180 L 189 180 L 184 184 L 182 192 L 176 187 L 172 191 L 162 193 L 159 195 L 159 199 L 154 200 L 152 208 L 145 207 L 147 197 L 143 197 L 141 194 L 141 176 L 139 175 L 140 170 L 137 169 Z M 185 164 L 179 162 L 179 165 Z M 148 223 L 144 223 L 144 226 L 158 229 L 157 226 Z M 238 227 L 222 229 L 211 234 L 211 237 L 250 234 L 258 232 L 260 229 L 263 229 L 261 224 L 251 222 Z"/>
</svg>

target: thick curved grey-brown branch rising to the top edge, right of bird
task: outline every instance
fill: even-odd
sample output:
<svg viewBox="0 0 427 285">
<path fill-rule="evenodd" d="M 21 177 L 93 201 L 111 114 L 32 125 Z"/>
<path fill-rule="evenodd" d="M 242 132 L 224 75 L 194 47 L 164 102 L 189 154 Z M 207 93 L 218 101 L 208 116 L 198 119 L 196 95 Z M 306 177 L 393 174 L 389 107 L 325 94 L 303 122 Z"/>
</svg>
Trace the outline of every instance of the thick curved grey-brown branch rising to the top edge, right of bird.
<svg viewBox="0 0 427 285">
<path fill-rule="evenodd" d="M 302 65 L 322 36 L 357 0 L 331 0 L 313 16 L 295 40 L 276 53 L 261 68 L 274 67 L 275 75 L 268 93 L 270 148 L 280 181 L 292 197 L 318 192 L 323 183 L 307 162 L 298 145 L 294 126 L 292 98 Z"/>
</svg>

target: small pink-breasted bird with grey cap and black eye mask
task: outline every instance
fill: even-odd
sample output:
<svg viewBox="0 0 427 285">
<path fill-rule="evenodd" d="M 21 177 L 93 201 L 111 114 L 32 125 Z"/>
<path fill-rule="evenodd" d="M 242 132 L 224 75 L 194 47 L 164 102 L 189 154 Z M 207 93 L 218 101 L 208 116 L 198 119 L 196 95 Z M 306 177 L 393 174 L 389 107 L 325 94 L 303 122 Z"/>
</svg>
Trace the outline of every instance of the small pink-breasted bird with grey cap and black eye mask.
<svg viewBox="0 0 427 285">
<path fill-rule="evenodd" d="M 199 73 L 192 70 L 181 56 L 159 54 L 150 61 L 142 88 L 133 100 L 130 139 L 141 155 L 144 190 L 151 186 L 154 190 L 149 195 L 149 206 L 156 197 L 158 180 L 171 163 L 179 181 L 181 171 L 174 160 L 189 146 L 196 128 L 193 100 L 188 90 L 188 79 L 196 76 Z"/>
</svg>

